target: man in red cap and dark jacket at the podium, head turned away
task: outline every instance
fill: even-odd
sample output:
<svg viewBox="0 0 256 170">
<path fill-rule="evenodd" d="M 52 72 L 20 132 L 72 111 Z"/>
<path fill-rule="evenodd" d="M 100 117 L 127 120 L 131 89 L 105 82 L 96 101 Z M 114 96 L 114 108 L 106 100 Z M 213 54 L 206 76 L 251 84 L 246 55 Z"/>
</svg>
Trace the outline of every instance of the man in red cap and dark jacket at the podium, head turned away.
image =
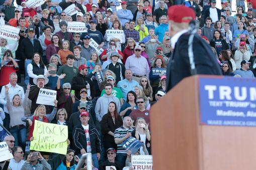
<svg viewBox="0 0 256 170">
<path fill-rule="evenodd" d="M 194 74 L 222 75 L 210 46 L 196 34 L 197 28 L 193 25 L 196 16 L 193 9 L 172 6 L 168 10 L 168 17 L 174 52 L 167 66 L 166 92 L 183 78 Z M 189 40 L 191 36 L 193 42 Z M 189 42 L 192 43 L 189 45 Z"/>
</svg>

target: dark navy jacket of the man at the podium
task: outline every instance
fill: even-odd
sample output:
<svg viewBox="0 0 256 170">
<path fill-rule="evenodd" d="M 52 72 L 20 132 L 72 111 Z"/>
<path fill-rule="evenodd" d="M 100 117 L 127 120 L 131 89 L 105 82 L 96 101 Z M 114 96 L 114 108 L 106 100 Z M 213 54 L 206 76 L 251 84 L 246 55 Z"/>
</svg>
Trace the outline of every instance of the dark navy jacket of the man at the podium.
<svg viewBox="0 0 256 170">
<path fill-rule="evenodd" d="M 189 33 L 183 34 L 175 45 L 173 55 L 167 66 L 166 91 L 173 88 L 185 77 L 191 76 L 188 55 L 189 37 Z M 197 34 L 193 41 L 193 53 L 197 74 L 222 75 L 210 46 Z"/>
</svg>

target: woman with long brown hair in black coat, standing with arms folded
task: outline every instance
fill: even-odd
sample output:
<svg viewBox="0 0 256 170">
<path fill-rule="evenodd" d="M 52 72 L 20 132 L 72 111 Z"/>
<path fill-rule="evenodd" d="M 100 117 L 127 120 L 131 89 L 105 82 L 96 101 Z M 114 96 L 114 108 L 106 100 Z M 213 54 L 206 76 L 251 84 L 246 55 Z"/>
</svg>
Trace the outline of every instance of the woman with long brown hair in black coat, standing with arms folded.
<svg viewBox="0 0 256 170">
<path fill-rule="evenodd" d="M 122 125 L 123 121 L 117 112 L 117 105 L 115 102 L 111 101 L 109 103 L 108 113 L 102 117 L 101 121 L 103 144 L 106 149 L 110 147 L 117 149 L 117 144 L 114 140 L 114 132 Z"/>
</svg>

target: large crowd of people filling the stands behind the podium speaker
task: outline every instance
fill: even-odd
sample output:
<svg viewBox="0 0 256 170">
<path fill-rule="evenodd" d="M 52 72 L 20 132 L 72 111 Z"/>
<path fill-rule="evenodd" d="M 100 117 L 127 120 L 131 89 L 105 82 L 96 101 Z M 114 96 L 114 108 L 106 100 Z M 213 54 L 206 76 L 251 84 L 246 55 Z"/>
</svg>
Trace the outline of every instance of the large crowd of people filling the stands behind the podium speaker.
<svg viewBox="0 0 256 170">
<path fill-rule="evenodd" d="M 234 16 L 231 1 L 218 9 L 216 0 L 47 0 L 31 8 L 16 3 L 0 3 L 1 25 L 20 29 L 17 41 L 0 38 L 0 123 L 10 131 L 4 141 L 14 155 L 0 162 L 2 169 L 74 169 L 87 152 L 94 169 L 133 169 L 131 152 L 121 145 L 131 136 L 144 142 L 135 154 L 151 154 L 150 107 L 164 100 L 166 66 L 177 41 L 169 35 L 173 5 L 194 10 L 200 41 L 211 46 L 224 76 L 256 75 L 253 2 L 247 12 L 237 3 Z M 72 16 L 65 13 L 70 5 L 77 11 Z M 72 21 L 85 23 L 87 32 L 69 32 Z M 107 30 L 123 32 L 109 38 Z M 41 88 L 56 90 L 54 106 L 37 103 Z M 25 154 L 35 120 L 68 127 L 66 155 Z"/>
</svg>

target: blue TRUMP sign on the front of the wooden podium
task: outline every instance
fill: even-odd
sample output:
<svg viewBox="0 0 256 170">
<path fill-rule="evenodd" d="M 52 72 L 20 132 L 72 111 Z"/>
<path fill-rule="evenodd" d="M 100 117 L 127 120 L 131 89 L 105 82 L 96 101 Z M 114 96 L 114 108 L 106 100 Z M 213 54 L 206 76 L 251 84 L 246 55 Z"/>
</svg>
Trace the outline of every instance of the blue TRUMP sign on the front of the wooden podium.
<svg viewBox="0 0 256 170">
<path fill-rule="evenodd" d="M 201 123 L 256 126 L 256 79 L 199 78 Z"/>
</svg>

